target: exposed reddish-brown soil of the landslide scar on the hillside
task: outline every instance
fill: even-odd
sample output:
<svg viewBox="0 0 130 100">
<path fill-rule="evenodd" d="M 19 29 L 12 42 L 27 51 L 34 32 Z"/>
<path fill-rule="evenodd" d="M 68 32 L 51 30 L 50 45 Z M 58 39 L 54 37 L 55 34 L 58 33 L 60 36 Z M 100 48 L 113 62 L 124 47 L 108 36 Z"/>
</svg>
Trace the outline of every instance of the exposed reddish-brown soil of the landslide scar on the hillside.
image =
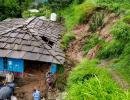
<svg viewBox="0 0 130 100">
<path fill-rule="evenodd" d="M 100 38 L 104 39 L 106 42 L 112 40 L 112 35 L 110 34 L 111 26 L 119 19 L 119 16 L 116 16 L 114 13 L 106 14 L 104 18 L 104 26 L 100 29 L 97 29 Z M 95 47 L 89 50 L 89 52 L 84 55 L 82 46 L 84 45 L 86 39 L 89 39 L 91 35 L 89 24 L 91 23 L 91 18 L 87 24 L 78 25 L 74 28 L 73 32 L 76 36 L 76 40 L 72 41 L 67 50 L 67 57 L 70 60 L 80 62 L 80 60 L 85 56 L 88 59 L 93 59 L 96 57 L 100 45 L 97 44 Z"/>
</svg>

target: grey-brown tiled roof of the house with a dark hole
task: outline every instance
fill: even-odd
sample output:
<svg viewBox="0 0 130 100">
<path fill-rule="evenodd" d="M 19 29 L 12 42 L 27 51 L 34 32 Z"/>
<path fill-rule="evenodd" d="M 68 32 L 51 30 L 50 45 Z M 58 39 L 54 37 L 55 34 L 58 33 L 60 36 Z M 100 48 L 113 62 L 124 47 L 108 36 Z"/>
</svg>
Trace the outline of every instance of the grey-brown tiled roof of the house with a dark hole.
<svg viewBox="0 0 130 100">
<path fill-rule="evenodd" d="M 0 57 L 63 64 L 65 54 L 60 48 L 62 28 L 56 22 L 39 18 L 2 21 L 0 22 L 0 31 L 2 31 Z M 41 37 L 46 37 L 47 41 Z"/>
</svg>

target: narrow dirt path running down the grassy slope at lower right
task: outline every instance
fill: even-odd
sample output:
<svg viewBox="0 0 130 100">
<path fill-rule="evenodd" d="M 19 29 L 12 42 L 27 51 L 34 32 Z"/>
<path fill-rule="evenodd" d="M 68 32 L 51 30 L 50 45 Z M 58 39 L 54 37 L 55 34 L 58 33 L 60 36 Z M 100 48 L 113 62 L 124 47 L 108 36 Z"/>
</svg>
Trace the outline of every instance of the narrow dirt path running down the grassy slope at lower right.
<svg viewBox="0 0 130 100">
<path fill-rule="evenodd" d="M 117 84 L 119 84 L 120 87 L 122 87 L 125 90 L 130 89 L 130 84 L 127 81 L 125 81 L 114 69 L 112 69 L 111 67 L 108 67 L 109 64 L 110 64 L 110 61 L 102 60 L 100 66 L 109 71 L 113 80 L 115 80 Z"/>
</svg>

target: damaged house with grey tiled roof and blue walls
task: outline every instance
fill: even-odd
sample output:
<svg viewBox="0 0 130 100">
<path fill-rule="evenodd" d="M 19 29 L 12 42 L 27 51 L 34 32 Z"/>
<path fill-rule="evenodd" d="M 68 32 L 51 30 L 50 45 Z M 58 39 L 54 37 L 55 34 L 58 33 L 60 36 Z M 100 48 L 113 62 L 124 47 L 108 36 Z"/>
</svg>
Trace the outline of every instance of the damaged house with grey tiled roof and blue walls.
<svg viewBox="0 0 130 100">
<path fill-rule="evenodd" d="M 63 31 L 61 24 L 40 17 L 1 21 L 0 72 L 24 73 L 28 67 L 44 63 L 55 73 L 57 65 L 65 62 L 60 48 Z"/>
</svg>

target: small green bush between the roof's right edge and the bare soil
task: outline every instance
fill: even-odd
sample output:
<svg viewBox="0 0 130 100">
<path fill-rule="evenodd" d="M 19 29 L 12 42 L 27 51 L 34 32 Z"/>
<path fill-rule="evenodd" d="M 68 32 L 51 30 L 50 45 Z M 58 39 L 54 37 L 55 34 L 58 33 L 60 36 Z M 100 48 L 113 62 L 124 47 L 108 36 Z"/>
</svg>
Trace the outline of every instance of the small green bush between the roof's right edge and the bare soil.
<svg viewBox="0 0 130 100">
<path fill-rule="evenodd" d="M 67 49 L 69 43 L 75 39 L 75 35 L 72 32 L 68 32 L 62 37 L 62 48 Z"/>
</svg>

